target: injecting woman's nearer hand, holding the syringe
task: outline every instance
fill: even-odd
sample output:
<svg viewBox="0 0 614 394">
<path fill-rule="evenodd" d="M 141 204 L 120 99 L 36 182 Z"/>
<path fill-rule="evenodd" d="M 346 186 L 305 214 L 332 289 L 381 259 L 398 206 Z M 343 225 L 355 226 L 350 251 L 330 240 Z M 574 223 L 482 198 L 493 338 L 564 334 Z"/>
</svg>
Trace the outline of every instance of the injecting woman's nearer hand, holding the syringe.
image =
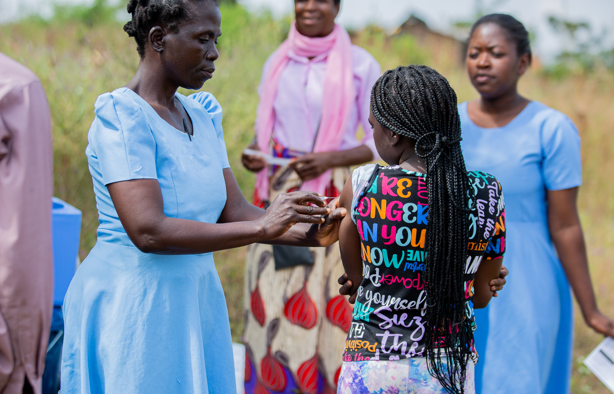
<svg viewBox="0 0 614 394">
<path fill-rule="evenodd" d="M 298 191 L 279 194 L 255 222 L 262 226 L 265 240 L 274 240 L 297 223 L 325 224 L 325 218 L 319 215 L 330 213 L 331 209 L 316 193 Z"/>
</svg>

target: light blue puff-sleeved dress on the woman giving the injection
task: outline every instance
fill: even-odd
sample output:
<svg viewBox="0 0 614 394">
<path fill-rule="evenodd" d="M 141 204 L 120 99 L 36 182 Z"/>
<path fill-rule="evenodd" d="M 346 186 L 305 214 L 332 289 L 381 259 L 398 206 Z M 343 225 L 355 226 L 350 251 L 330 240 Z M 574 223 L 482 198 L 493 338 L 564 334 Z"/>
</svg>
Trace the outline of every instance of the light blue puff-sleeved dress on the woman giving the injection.
<svg viewBox="0 0 614 394">
<path fill-rule="evenodd" d="M 128 88 L 98 97 L 85 151 L 98 241 L 64 299 L 62 394 L 235 393 L 228 311 L 211 253 L 160 256 L 126 235 L 107 184 L 155 179 L 170 218 L 215 223 L 230 167 L 222 108 L 176 94 L 192 141 Z"/>
</svg>

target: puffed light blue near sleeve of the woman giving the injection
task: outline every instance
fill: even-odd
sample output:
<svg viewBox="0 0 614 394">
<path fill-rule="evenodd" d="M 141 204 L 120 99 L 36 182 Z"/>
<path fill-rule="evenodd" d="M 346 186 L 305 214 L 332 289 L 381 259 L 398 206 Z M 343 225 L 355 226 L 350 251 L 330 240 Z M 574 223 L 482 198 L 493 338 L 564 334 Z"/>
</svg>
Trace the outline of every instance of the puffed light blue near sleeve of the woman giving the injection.
<svg viewBox="0 0 614 394">
<path fill-rule="evenodd" d="M 157 180 L 156 143 L 141 107 L 120 91 L 99 96 L 94 107 L 96 118 L 88 142 L 98 159 L 103 184 Z"/>
</svg>

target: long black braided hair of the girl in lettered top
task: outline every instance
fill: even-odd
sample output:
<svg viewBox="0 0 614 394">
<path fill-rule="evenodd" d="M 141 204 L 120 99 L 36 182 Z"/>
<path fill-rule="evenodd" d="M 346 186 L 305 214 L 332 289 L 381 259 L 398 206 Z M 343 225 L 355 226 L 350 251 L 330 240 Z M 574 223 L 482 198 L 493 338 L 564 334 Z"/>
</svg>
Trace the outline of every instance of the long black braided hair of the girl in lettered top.
<svg viewBox="0 0 614 394">
<path fill-rule="evenodd" d="M 416 154 L 426 162 L 426 357 L 429 373 L 455 394 L 464 393 L 473 341 L 465 317 L 464 273 L 468 207 L 475 200 L 462 156 L 456 105 L 448 80 L 427 66 L 388 70 L 371 90 L 377 121 L 414 140 Z"/>
</svg>

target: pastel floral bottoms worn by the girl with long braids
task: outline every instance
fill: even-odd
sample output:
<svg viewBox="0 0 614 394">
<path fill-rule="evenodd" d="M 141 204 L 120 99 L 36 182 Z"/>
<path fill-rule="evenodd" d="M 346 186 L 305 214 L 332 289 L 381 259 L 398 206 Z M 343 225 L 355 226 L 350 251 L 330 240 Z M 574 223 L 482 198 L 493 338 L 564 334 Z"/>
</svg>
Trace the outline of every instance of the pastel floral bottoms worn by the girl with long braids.
<svg viewBox="0 0 614 394">
<path fill-rule="evenodd" d="M 467 363 L 465 393 L 475 394 L 472 362 Z M 337 394 L 446 394 L 429 374 L 426 358 L 395 361 L 352 361 L 341 367 Z"/>
</svg>

